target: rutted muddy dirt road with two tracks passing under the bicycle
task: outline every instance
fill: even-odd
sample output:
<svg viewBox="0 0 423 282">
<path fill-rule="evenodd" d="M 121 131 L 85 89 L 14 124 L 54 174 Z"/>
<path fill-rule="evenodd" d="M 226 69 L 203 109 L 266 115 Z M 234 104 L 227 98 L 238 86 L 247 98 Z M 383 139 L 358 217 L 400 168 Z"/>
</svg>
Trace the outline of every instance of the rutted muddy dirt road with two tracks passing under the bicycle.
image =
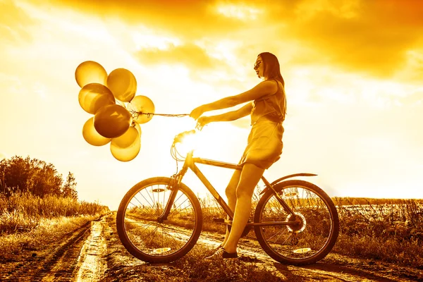
<svg viewBox="0 0 423 282">
<path fill-rule="evenodd" d="M 116 234 L 115 214 L 92 221 L 37 252 L 20 254 L 19 262 L 0 266 L 0 281 L 186 281 L 175 264 L 146 264 L 132 257 Z M 221 238 L 202 233 L 199 243 L 214 247 Z M 330 254 L 311 266 L 278 264 L 254 242 L 243 239 L 240 252 L 254 257 L 281 281 L 423 281 L 422 271 L 367 259 Z M 146 276 L 146 273 L 149 276 Z M 196 280 L 199 281 L 199 280 Z"/>
</svg>

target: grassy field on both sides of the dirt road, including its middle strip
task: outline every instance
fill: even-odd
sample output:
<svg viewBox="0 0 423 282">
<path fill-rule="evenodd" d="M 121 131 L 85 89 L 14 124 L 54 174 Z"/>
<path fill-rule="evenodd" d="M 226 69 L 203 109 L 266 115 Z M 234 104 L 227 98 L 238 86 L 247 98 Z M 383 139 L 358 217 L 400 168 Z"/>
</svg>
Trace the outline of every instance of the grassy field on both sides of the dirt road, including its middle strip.
<svg viewBox="0 0 423 282">
<path fill-rule="evenodd" d="M 202 198 L 200 202 L 203 208 L 203 233 L 204 235 L 214 234 L 213 238 L 219 242 L 223 238 L 225 226 L 214 222 L 213 219 L 223 217 L 223 213 L 211 198 Z M 254 197 L 254 202 L 257 202 L 257 195 Z M 375 264 L 384 262 L 385 265 L 408 269 L 409 273 L 410 269 L 417 271 L 422 269 L 423 200 L 333 198 L 333 202 L 337 206 L 340 217 L 340 235 L 331 255 L 323 260 L 324 264 L 320 267 L 339 265 L 340 277 L 346 275 L 342 274 L 346 267 L 359 271 L 357 269 L 362 268 L 363 262 Z M 8 264 L 19 262 L 17 259 L 20 259 L 20 254 L 25 252 L 30 252 L 32 255 L 40 254 L 43 245 L 47 246 L 55 240 L 66 237 L 88 221 L 93 221 L 104 214 L 109 214 L 107 207 L 63 197 L 39 198 L 25 193 L 14 194 L 8 199 L 0 197 L 0 262 Z M 110 227 L 104 227 L 106 229 L 103 233 L 106 237 L 102 239 L 111 244 L 107 251 L 104 251 L 110 252 L 107 261 L 109 270 L 99 275 L 119 278 L 121 281 L 130 281 L 135 277 L 161 281 L 164 275 L 169 277 L 168 281 L 183 281 L 189 278 L 193 279 L 192 281 L 217 281 L 218 279 L 219 281 L 270 282 L 281 281 L 281 274 L 290 281 L 304 281 L 301 280 L 303 276 L 317 277 L 316 270 L 307 272 L 305 268 L 295 269 L 290 266 L 286 268 L 280 264 L 264 264 L 254 257 L 251 261 L 218 261 L 210 264 L 202 258 L 209 254 L 211 247 L 200 241 L 188 255 L 176 262 L 157 266 L 143 264 L 131 257 L 119 243 L 114 217 L 114 214 L 109 214 L 106 218 Z M 254 240 L 254 237 L 254 231 L 250 231 L 241 241 Z M 117 257 L 111 254 L 116 254 Z M 27 265 L 32 267 L 33 264 Z M 372 278 L 372 275 L 376 273 L 381 275 L 380 269 L 376 266 L 367 264 L 366 267 L 370 267 L 363 270 L 367 271 L 368 278 Z M 323 270 L 319 274 L 322 277 L 329 269 Z M 293 276 L 293 273 L 299 276 Z M 363 273 L 357 272 L 357 275 L 364 275 Z M 396 277 L 409 275 L 392 269 L 388 273 L 387 275 L 393 273 L 398 275 Z"/>
</svg>

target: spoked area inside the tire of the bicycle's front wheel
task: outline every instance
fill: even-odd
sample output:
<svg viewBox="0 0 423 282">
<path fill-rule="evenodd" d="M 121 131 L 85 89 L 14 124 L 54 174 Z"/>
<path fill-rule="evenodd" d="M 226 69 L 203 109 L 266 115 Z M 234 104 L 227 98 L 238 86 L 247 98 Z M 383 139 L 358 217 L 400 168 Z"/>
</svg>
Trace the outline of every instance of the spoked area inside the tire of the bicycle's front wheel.
<svg viewBox="0 0 423 282">
<path fill-rule="evenodd" d="M 166 207 L 168 213 L 164 215 Z M 195 216 L 192 200 L 184 191 L 173 192 L 166 183 L 156 183 L 142 188 L 128 202 L 125 232 L 139 252 L 169 256 L 190 241 Z"/>
</svg>

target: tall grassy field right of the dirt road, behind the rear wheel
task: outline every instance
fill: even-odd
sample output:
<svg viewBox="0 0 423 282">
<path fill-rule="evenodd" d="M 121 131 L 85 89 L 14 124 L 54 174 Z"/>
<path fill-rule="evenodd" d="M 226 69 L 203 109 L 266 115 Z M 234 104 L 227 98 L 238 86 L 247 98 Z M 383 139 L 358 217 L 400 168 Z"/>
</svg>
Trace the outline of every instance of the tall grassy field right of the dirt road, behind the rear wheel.
<svg viewBox="0 0 423 282">
<path fill-rule="evenodd" d="M 224 218 L 223 210 L 211 197 L 200 202 L 203 230 L 223 234 L 225 226 L 212 220 Z M 340 232 L 332 252 L 423 269 L 423 200 L 338 197 L 333 202 Z M 249 236 L 255 238 L 254 231 Z"/>
</svg>

